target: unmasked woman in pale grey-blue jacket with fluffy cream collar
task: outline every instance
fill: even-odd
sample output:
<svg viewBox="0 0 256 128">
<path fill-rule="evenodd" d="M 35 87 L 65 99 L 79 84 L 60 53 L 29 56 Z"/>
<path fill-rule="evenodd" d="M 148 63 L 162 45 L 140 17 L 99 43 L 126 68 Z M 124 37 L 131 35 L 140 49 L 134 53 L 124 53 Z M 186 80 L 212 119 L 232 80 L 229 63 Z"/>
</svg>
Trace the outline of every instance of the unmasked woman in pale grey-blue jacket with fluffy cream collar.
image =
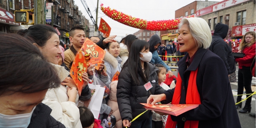
<svg viewBox="0 0 256 128">
<path fill-rule="evenodd" d="M 112 78 L 117 71 L 121 72 L 122 59 L 119 57 L 120 45 L 118 42 L 109 42 L 107 49 L 105 49 L 106 54 L 104 57 L 105 66 L 108 74 L 108 81 L 111 83 Z"/>
</svg>

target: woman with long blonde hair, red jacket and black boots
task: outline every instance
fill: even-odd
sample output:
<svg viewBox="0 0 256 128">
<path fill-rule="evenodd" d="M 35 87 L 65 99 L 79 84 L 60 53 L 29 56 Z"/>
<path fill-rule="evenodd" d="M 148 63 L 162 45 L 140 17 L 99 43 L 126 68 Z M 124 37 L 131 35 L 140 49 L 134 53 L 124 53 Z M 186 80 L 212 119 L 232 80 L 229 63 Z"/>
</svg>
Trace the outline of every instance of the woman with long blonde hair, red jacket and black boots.
<svg viewBox="0 0 256 128">
<path fill-rule="evenodd" d="M 243 40 L 239 46 L 238 53 L 244 53 L 245 57 L 243 58 L 236 58 L 235 61 L 238 62 L 238 87 L 237 87 L 237 95 L 242 95 L 244 92 L 244 88 L 246 94 L 252 93 L 252 72 L 251 72 L 251 65 L 253 59 L 255 58 L 255 32 L 247 32 Z M 246 95 L 247 97 L 249 95 Z M 242 100 L 242 96 L 237 96 L 236 102 L 240 102 Z M 246 102 L 245 106 L 242 110 L 239 110 L 239 113 L 246 113 L 247 111 L 251 112 L 251 101 L 252 97 L 249 97 Z M 236 105 L 236 108 L 242 107 L 242 102 Z"/>
</svg>

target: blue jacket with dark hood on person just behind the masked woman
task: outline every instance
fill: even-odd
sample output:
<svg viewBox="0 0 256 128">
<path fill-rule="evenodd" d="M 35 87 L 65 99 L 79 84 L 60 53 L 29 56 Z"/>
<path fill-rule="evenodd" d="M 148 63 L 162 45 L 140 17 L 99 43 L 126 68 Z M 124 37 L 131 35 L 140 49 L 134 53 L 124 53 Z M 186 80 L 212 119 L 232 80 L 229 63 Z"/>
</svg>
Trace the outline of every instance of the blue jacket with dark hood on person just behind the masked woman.
<svg viewBox="0 0 256 128">
<path fill-rule="evenodd" d="M 151 59 L 150 62 L 153 63 L 153 64 L 163 65 L 166 68 L 167 71 L 171 70 L 171 68 L 168 65 L 166 65 L 164 63 L 164 61 L 159 57 L 159 55 L 157 53 L 157 49 L 155 49 L 155 47 L 154 47 L 158 43 L 160 43 L 160 45 L 161 45 L 160 37 L 155 34 L 149 39 L 148 42 L 149 42 L 149 45 L 150 45 L 149 46 L 149 51 L 152 53 L 152 59 Z"/>
</svg>

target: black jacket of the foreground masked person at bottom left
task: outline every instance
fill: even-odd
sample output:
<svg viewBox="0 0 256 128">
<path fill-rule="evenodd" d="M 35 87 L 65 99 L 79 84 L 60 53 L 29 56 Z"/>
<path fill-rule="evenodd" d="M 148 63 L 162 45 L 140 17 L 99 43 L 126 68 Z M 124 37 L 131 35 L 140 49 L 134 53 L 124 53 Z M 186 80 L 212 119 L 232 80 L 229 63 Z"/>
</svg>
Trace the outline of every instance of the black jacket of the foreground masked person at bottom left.
<svg viewBox="0 0 256 128">
<path fill-rule="evenodd" d="M 36 105 L 28 128 L 66 128 L 50 115 L 51 112 L 52 109 L 43 103 Z"/>
</svg>

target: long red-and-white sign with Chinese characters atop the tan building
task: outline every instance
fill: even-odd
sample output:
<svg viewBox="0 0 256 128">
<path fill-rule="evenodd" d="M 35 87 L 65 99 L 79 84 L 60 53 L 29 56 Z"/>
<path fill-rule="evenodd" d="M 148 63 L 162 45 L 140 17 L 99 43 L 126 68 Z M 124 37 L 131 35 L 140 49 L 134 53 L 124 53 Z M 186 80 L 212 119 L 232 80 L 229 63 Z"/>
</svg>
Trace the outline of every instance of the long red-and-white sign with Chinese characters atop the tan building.
<svg viewBox="0 0 256 128">
<path fill-rule="evenodd" d="M 243 3 L 243 2 L 246 2 L 246 1 L 249 1 L 249 0 L 224 0 L 224 1 L 221 1 L 219 3 L 213 4 L 211 6 L 208 6 L 208 7 L 202 8 L 200 10 L 197 10 L 196 11 L 196 17 L 200 17 L 201 15 L 205 15 L 205 14 L 208 14 L 208 13 L 211 13 L 211 12 L 215 12 L 215 11 L 218 11 L 218 10 L 221 10 L 221 9 L 224 9 L 224 8 L 227 8 L 227 7 L 231 7 L 233 5 Z"/>
</svg>

